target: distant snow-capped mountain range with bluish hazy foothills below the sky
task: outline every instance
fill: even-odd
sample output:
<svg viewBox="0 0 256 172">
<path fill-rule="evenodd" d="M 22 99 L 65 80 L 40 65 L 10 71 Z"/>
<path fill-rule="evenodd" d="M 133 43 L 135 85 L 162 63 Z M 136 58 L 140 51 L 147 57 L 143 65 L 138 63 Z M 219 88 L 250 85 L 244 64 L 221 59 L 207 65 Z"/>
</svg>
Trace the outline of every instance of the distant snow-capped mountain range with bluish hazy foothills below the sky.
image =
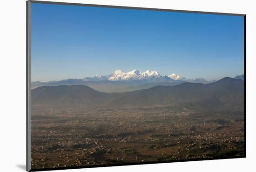
<svg viewBox="0 0 256 172">
<path fill-rule="evenodd" d="M 105 76 L 95 75 L 94 77 L 85 77 L 83 79 L 64 79 L 48 82 L 36 81 L 32 82 L 32 89 L 39 86 L 85 85 L 100 92 L 121 93 L 148 89 L 153 86 L 175 86 L 184 82 L 209 84 L 216 82 L 216 80 L 207 81 L 203 78 L 186 79 L 175 73 L 171 75 L 163 75 L 157 71 L 149 70 L 145 72 L 133 70 L 128 73 L 116 70 L 115 72 Z"/>
</svg>

